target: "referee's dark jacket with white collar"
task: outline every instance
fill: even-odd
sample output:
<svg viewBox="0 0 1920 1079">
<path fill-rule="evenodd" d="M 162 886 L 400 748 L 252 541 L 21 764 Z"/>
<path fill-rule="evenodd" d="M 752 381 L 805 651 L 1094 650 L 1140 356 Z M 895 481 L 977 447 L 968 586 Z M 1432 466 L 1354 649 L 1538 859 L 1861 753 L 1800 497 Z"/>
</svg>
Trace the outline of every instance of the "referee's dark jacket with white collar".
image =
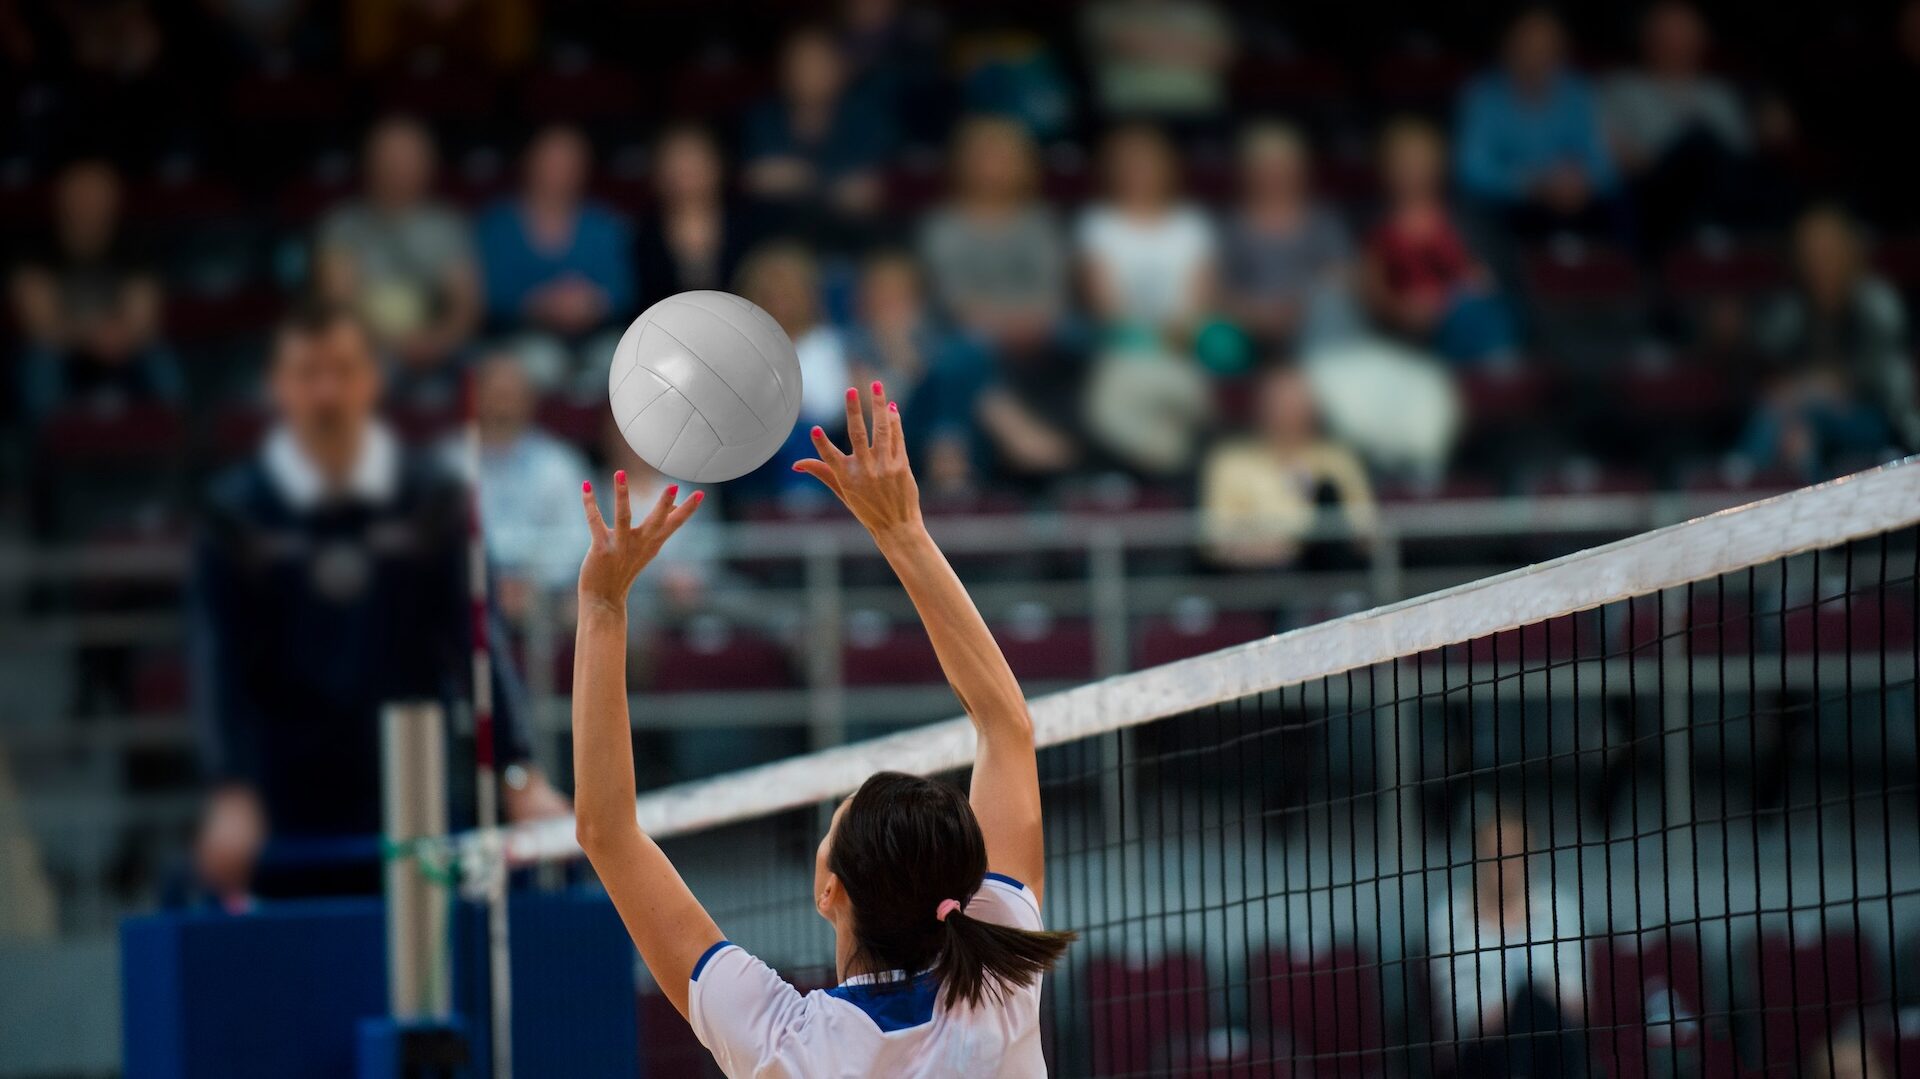
<svg viewBox="0 0 1920 1079">
<path fill-rule="evenodd" d="M 276 841 L 380 831 L 380 708 L 468 716 L 467 490 L 436 455 L 372 428 L 328 495 L 286 432 L 215 480 L 194 555 L 194 708 L 215 781 L 252 783 Z M 492 614 L 490 614 L 492 618 Z M 526 758 L 524 693 L 493 647 L 495 749 Z M 447 760 L 470 820 L 470 739 Z M 465 795 L 465 797 L 459 797 Z"/>
</svg>

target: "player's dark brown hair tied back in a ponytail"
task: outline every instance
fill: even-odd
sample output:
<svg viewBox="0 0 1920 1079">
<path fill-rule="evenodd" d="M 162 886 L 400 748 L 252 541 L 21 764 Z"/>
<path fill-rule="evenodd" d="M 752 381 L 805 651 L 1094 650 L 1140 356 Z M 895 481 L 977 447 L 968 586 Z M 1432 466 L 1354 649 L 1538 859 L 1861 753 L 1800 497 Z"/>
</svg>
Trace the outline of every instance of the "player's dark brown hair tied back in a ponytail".
<svg viewBox="0 0 1920 1079">
<path fill-rule="evenodd" d="M 1002 1000 L 1075 939 L 966 914 L 987 877 L 987 841 L 966 795 L 937 779 L 879 772 L 862 783 L 833 829 L 828 870 L 852 900 L 856 958 L 929 970 L 948 1004 Z"/>
</svg>

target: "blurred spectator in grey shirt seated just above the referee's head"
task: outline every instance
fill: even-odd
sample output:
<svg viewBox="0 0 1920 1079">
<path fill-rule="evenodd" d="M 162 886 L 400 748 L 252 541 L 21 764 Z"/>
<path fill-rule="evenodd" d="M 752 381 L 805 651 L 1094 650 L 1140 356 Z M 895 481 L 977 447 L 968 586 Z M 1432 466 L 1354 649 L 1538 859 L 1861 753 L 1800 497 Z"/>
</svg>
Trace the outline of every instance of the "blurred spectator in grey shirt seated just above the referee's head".
<svg viewBox="0 0 1920 1079">
<path fill-rule="evenodd" d="M 434 138 L 388 117 L 367 134 L 365 194 L 321 221 L 315 284 L 351 303 L 397 361 L 403 397 L 451 397 L 455 355 L 480 323 L 480 280 L 461 215 L 432 198 Z"/>
</svg>

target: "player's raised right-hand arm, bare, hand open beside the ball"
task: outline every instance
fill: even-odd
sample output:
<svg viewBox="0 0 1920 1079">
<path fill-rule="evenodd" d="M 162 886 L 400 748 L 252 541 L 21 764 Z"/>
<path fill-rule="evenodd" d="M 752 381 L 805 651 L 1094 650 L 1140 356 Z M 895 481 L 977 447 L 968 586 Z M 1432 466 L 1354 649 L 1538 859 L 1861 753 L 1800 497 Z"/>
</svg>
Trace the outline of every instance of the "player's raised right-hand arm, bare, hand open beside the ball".
<svg viewBox="0 0 1920 1079">
<path fill-rule="evenodd" d="M 979 733 L 972 803 L 987 837 L 987 868 L 1020 879 L 1039 897 L 1046 860 L 1027 699 L 966 586 L 920 518 L 920 488 L 906 463 L 899 405 L 887 401 L 879 382 L 874 382 L 870 401 L 872 438 L 860 392 L 847 390 L 851 451 L 841 453 L 816 426 L 814 449 L 820 459 L 801 461 L 793 468 L 818 478 L 839 495 L 874 534 L 879 553 L 899 574 L 927 628 L 947 682 Z"/>
</svg>

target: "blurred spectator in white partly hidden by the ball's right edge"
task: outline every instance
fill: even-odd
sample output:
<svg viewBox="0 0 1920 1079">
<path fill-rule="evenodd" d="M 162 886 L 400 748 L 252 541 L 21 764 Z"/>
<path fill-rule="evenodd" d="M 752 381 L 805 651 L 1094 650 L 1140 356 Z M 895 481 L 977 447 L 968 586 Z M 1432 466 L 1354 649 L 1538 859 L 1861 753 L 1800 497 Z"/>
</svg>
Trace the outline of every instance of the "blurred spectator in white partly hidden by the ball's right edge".
<svg viewBox="0 0 1920 1079">
<path fill-rule="evenodd" d="M 843 394 L 852 386 L 847 344 L 820 311 L 820 269 L 814 255 L 791 242 L 756 248 L 739 267 L 737 292 L 758 303 L 793 338 L 793 351 L 801 357 L 801 419 L 795 426 L 795 447 L 810 455 L 806 428 L 847 426 Z"/>
</svg>

